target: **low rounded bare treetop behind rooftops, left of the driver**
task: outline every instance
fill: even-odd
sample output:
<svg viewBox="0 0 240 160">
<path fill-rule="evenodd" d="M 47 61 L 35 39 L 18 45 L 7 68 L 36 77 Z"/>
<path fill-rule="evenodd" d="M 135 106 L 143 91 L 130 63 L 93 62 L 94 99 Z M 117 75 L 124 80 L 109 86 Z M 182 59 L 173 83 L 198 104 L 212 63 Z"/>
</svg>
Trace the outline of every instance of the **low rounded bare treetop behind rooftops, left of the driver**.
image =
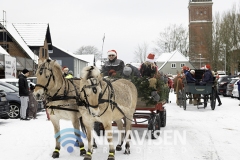
<svg viewBox="0 0 240 160">
<path fill-rule="evenodd" d="M 77 55 L 94 54 L 96 60 L 101 59 L 101 52 L 94 46 L 82 46 L 74 54 Z"/>
</svg>

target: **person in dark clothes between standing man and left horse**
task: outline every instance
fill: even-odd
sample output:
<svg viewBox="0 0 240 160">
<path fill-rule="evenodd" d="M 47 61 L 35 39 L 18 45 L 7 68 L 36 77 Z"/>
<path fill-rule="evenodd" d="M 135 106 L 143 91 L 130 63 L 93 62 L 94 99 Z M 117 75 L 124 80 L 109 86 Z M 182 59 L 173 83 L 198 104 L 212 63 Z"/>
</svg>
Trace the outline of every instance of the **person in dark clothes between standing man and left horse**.
<svg viewBox="0 0 240 160">
<path fill-rule="evenodd" d="M 37 108 L 38 108 L 38 102 L 33 97 L 35 86 L 30 84 L 30 93 L 29 93 L 29 118 L 31 119 L 37 119 Z"/>
</svg>

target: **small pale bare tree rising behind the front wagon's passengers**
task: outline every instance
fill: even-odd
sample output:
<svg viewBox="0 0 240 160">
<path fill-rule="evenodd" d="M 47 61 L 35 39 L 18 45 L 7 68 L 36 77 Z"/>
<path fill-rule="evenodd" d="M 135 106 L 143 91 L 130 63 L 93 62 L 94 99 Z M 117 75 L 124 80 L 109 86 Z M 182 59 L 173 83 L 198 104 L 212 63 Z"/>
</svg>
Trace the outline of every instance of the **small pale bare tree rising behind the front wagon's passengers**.
<svg viewBox="0 0 240 160">
<path fill-rule="evenodd" d="M 134 51 L 135 60 L 137 63 L 143 63 L 146 60 L 148 53 L 148 44 L 144 42 L 142 45 L 138 45 L 137 49 Z"/>
</svg>

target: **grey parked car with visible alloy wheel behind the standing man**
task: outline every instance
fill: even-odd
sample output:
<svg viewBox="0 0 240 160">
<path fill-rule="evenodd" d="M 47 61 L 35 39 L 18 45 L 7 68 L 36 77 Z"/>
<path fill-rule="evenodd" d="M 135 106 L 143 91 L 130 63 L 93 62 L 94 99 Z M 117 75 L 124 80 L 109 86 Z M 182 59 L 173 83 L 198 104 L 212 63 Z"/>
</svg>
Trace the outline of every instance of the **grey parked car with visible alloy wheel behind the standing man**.
<svg viewBox="0 0 240 160">
<path fill-rule="evenodd" d="M 19 89 L 18 87 L 9 84 L 7 82 L 0 82 L 0 90 L 4 90 L 7 93 L 7 100 L 9 101 L 10 112 L 9 118 L 19 118 L 20 117 L 20 108 L 21 101 L 19 97 Z M 42 111 L 43 103 L 39 101 L 38 103 L 38 112 Z"/>
</svg>

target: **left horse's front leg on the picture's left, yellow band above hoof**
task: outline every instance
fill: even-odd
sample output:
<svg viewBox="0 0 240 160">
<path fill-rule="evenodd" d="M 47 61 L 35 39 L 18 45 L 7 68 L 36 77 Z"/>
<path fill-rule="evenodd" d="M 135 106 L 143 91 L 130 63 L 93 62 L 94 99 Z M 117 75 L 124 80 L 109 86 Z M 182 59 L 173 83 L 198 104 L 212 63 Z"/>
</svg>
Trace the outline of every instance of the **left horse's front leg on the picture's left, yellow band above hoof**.
<svg viewBox="0 0 240 160">
<path fill-rule="evenodd" d="M 60 131 L 60 125 L 59 125 L 59 119 L 55 118 L 55 117 L 51 117 L 50 118 L 52 124 L 53 124 L 53 128 L 54 128 L 54 135 L 56 135 L 59 131 Z M 52 157 L 53 158 L 59 158 L 60 155 L 60 142 L 58 142 L 58 139 L 60 138 L 60 135 L 58 137 L 56 137 L 56 146 L 55 146 L 55 150 L 53 151 Z"/>
</svg>

